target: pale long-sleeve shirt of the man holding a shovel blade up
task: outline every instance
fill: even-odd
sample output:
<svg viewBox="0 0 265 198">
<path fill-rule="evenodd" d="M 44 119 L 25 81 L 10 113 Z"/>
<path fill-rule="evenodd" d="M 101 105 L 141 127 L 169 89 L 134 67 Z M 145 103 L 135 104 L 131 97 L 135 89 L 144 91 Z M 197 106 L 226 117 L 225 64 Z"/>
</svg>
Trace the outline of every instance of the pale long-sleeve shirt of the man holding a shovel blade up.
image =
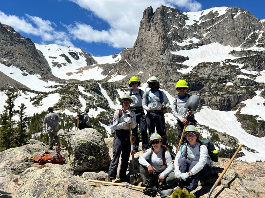
<svg viewBox="0 0 265 198">
<path fill-rule="evenodd" d="M 188 108 L 184 107 L 188 100 L 188 95 L 184 99 L 179 99 L 177 97 L 174 99 L 172 103 L 172 114 L 174 115 L 174 117 L 176 117 L 177 120 L 182 122 L 184 118 L 187 119 L 188 117 L 189 110 Z M 196 114 L 197 112 L 198 112 L 198 109 L 196 111 L 192 110 L 192 114 Z"/>
</svg>

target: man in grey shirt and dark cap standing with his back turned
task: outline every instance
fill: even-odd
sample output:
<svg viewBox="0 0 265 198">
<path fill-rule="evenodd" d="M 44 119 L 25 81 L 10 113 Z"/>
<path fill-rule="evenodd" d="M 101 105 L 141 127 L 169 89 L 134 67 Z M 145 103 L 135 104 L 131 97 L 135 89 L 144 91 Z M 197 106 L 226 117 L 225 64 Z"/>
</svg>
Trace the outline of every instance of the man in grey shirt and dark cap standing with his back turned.
<svg viewBox="0 0 265 198">
<path fill-rule="evenodd" d="M 60 146 L 60 138 L 57 136 L 58 123 L 61 121 L 58 114 L 53 112 L 53 107 L 48 108 L 48 114 L 44 117 L 43 124 L 47 124 L 47 133 L 49 135 L 50 150 L 52 150 L 53 139 L 57 146 Z"/>
</svg>

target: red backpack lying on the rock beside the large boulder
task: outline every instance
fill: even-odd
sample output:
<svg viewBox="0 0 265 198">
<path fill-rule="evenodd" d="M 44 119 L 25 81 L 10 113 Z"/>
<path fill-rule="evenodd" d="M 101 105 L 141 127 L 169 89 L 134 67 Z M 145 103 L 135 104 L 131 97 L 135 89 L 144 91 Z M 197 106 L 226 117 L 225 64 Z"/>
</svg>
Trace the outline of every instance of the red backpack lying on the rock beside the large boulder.
<svg viewBox="0 0 265 198">
<path fill-rule="evenodd" d="M 60 147 L 56 147 L 55 153 L 45 152 L 41 154 L 39 157 L 35 157 L 34 161 L 39 165 L 43 165 L 46 163 L 52 164 L 61 164 L 65 160 L 65 156 L 60 154 Z"/>
</svg>

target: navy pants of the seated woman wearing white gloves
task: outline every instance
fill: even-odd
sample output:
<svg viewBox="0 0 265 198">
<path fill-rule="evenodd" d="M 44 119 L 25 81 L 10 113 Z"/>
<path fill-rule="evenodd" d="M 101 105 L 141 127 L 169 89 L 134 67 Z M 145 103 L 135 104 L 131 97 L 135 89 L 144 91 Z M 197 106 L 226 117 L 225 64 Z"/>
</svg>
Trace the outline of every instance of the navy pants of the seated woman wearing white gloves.
<svg viewBox="0 0 265 198">
<path fill-rule="evenodd" d="M 179 159 L 180 172 L 181 173 L 189 172 L 197 163 L 198 161 L 191 162 L 188 159 L 180 158 Z M 201 178 L 209 178 L 213 175 L 213 172 L 214 172 L 213 168 L 205 164 L 205 166 L 201 169 L 201 171 L 196 173 L 195 175 L 192 175 L 190 179 L 186 179 L 186 181 L 184 180 L 179 181 L 179 187 L 180 188 L 185 187 L 190 190 L 194 190 L 195 183 L 198 180 L 199 176 Z"/>
</svg>

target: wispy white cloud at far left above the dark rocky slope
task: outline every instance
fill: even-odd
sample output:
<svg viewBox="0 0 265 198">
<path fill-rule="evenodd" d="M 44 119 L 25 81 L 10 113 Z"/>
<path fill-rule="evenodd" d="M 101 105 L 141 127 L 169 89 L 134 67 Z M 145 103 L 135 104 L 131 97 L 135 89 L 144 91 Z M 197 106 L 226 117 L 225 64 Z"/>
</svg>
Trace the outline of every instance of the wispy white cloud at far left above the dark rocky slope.
<svg viewBox="0 0 265 198">
<path fill-rule="evenodd" d="M 25 32 L 34 36 L 40 36 L 43 42 L 55 43 L 58 45 L 74 46 L 66 32 L 56 31 L 52 26 L 56 24 L 43 20 L 37 16 L 26 14 L 26 18 L 15 15 L 6 15 L 0 11 L 0 21 L 9 25 L 17 32 Z"/>
</svg>

